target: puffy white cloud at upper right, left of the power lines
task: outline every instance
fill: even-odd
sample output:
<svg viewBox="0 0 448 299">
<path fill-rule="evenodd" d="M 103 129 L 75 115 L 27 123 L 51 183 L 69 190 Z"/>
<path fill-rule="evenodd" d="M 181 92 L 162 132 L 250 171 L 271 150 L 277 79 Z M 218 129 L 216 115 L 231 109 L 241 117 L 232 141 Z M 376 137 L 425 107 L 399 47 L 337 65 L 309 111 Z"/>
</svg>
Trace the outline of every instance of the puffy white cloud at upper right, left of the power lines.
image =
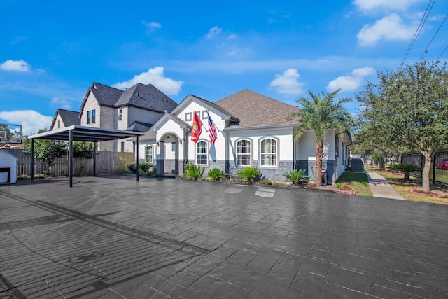
<svg viewBox="0 0 448 299">
<path fill-rule="evenodd" d="M 356 35 L 361 46 L 373 46 L 380 39 L 406 41 L 412 39 L 416 31 L 414 25 L 403 24 L 402 19 L 396 13 L 392 13 L 374 25 L 364 25 Z"/>
</svg>

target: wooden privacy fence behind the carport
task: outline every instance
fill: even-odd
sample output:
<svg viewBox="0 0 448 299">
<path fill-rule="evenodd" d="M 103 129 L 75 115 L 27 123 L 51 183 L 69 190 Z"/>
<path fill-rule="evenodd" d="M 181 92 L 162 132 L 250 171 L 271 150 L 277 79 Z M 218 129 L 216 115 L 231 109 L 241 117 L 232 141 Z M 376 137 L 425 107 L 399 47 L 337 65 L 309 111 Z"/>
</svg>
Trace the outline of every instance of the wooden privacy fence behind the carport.
<svg viewBox="0 0 448 299">
<path fill-rule="evenodd" d="M 31 154 L 22 149 L 6 148 L 8 153 L 18 158 L 17 175 L 31 175 Z M 134 153 L 98 151 L 96 154 L 96 174 L 113 174 L 117 172 L 118 160 L 134 160 Z M 47 166 L 40 159 L 34 159 L 34 174 L 44 174 Z M 69 175 L 69 156 L 55 158 L 51 168 L 52 176 Z M 73 176 L 92 176 L 93 159 L 73 158 Z"/>
</svg>

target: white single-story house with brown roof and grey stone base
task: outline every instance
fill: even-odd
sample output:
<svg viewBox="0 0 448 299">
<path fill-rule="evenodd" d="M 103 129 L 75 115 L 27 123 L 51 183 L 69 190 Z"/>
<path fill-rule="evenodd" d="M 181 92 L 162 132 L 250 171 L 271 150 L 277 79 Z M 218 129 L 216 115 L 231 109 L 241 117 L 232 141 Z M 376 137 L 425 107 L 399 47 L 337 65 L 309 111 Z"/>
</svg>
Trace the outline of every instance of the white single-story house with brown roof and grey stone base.
<svg viewBox="0 0 448 299">
<path fill-rule="evenodd" d="M 188 95 L 171 112 L 165 113 L 140 139 L 141 161 L 157 165 L 158 174 L 182 175 L 186 162 L 209 169 L 223 169 L 237 176 L 239 169 L 254 166 L 262 177 L 284 181 L 291 169 L 305 169 L 314 178 L 316 137 L 310 131 L 293 140 L 293 128 L 300 125 L 286 116 L 295 106 L 242 90 L 218 102 Z M 207 112 L 218 129 L 211 144 Z M 191 141 L 193 113 L 203 123 L 197 143 Z M 348 132 L 325 134 L 323 169 L 328 182 L 335 181 L 346 169 L 351 136 Z"/>
</svg>

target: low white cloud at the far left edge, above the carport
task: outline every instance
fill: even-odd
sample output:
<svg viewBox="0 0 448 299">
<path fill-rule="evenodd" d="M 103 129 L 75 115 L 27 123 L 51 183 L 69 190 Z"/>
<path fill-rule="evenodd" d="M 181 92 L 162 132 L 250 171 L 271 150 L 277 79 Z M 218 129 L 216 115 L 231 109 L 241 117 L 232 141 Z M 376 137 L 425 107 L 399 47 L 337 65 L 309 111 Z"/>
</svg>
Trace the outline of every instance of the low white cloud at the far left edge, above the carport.
<svg viewBox="0 0 448 299">
<path fill-rule="evenodd" d="M 1 111 L 0 118 L 8 123 L 22 125 L 22 134 L 36 134 L 38 130 L 49 130 L 52 123 L 52 116 L 43 116 L 34 110 Z"/>
</svg>

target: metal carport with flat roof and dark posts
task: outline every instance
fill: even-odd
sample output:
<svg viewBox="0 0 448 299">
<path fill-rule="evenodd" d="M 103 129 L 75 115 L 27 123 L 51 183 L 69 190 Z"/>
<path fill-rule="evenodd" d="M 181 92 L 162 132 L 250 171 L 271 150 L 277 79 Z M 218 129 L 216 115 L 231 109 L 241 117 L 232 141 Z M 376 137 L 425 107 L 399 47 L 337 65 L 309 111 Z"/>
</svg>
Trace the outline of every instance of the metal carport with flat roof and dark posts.
<svg viewBox="0 0 448 299">
<path fill-rule="evenodd" d="M 34 139 L 51 139 L 51 140 L 65 140 L 69 141 L 69 181 L 70 187 L 73 186 L 73 141 L 89 141 L 94 143 L 94 151 L 96 151 L 97 142 L 109 141 L 123 138 L 137 137 L 137 181 L 139 181 L 139 168 L 140 168 L 140 136 L 144 135 L 144 132 L 134 131 L 120 131 L 102 129 L 99 127 L 84 127 L 80 125 L 71 125 L 70 127 L 64 127 L 63 129 L 54 130 L 50 132 L 43 132 L 40 134 L 34 134 L 29 137 L 31 139 L 31 180 L 34 180 Z M 93 175 L 95 175 L 95 155 L 93 155 Z"/>
</svg>

